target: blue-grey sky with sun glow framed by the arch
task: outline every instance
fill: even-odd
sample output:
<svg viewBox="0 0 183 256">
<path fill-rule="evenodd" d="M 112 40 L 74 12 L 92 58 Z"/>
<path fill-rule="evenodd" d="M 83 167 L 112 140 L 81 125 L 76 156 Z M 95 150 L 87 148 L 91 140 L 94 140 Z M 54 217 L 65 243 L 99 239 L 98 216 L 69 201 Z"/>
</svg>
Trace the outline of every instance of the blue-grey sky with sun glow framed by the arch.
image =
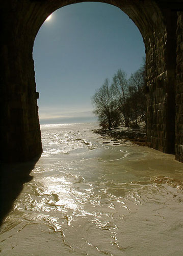
<svg viewBox="0 0 183 256">
<path fill-rule="evenodd" d="M 137 71 L 142 36 L 119 8 L 103 3 L 68 5 L 40 28 L 33 49 L 40 123 L 93 120 L 91 96 L 118 69 Z"/>
</svg>

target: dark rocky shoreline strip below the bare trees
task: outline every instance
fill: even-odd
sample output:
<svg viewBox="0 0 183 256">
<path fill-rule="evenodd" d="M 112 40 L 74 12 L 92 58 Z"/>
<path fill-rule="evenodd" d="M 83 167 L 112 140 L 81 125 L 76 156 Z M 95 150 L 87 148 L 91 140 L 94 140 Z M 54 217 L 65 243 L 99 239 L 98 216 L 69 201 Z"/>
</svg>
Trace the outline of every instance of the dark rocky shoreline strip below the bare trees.
<svg viewBox="0 0 183 256">
<path fill-rule="evenodd" d="M 112 128 L 111 130 L 99 128 L 92 130 L 92 132 L 100 135 L 103 139 L 111 139 L 113 145 L 127 144 L 131 142 L 132 144 L 136 144 L 138 146 L 147 146 L 146 132 L 143 127 L 138 129 L 130 127 L 116 127 Z M 102 143 L 107 144 L 109 141 Z"/>
</svg>

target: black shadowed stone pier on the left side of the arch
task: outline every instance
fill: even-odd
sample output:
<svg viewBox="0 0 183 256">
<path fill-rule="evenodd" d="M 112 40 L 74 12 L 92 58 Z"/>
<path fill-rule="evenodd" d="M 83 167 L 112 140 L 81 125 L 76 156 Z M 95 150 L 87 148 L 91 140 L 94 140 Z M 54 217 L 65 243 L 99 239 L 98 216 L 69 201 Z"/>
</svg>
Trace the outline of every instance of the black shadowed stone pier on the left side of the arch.
<svg viewBox="0 0 183 256">
<path fill-rule="evenodd" d="M 33 42 L 18 11 L 5 6 L 1 19 L 8 20 L 1 40 L 1 160 L 27 161 L 42 152 L 38 118 Z"/>
</svg>

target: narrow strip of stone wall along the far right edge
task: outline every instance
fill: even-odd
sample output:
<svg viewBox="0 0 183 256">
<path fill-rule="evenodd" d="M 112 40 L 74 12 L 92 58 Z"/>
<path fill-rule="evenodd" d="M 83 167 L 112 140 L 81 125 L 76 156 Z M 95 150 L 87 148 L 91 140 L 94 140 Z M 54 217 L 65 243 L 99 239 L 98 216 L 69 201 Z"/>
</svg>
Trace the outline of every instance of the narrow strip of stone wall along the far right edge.
<svg viewBox="0 0 183 256">
<path fill-rule="evenodd" d="M 176 35 L 175 153 L 176 160 L 183 162 L 183 12 L 178 12 Z"/>
</svg>

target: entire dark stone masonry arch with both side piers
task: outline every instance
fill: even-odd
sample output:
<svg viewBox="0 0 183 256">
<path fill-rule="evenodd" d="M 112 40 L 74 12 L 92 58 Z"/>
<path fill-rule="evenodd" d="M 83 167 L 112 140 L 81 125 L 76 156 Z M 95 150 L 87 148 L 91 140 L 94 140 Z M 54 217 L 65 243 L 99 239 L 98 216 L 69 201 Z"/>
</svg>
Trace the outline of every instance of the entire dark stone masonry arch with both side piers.
<svg viewBox="0 0 183 256">
<path fill-rule="evenodd" d="M 1 1 L 2 161 L 26 161 L 42 152 L 34 40 L 49 14 L 78 2 L 87 1 Z M 95 2 L 119 7 L 139 28 L 146 49 L 147 142 L 183 162 L 183 0 Z"/>
</svg>

